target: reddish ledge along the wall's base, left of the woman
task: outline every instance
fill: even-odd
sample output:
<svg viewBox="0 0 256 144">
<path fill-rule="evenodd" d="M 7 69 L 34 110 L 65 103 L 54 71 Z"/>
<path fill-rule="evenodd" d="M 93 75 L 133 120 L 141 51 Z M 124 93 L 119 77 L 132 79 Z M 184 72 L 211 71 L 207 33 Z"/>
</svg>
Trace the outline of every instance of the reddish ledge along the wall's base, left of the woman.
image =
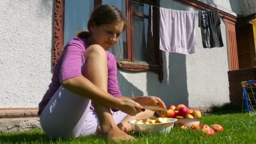
<svg viewBox="0 0 256 144">
<path fill-rule="evenodd" d="M 0 108 L 0 118 L 38 117 L 38 108 Z"/>
</svg>

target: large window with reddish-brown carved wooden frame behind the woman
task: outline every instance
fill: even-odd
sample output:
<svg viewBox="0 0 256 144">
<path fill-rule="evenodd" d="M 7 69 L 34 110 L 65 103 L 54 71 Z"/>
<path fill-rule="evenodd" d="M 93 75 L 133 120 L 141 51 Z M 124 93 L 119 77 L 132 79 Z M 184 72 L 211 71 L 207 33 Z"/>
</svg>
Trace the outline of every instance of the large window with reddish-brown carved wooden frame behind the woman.
<svg viewBox="0 0 256 144">
<path fill-rule="evenodd" d="M 55 0 L 53 64 L 56 64 L 61 48 L 70 38 L 75 37 L 75 32 L 87 29 L 87 21 L 93 8 L 110 4 L 122 11 L 128 21 L 128 29 L 109 50 L 115 55 L 117 66 L 128 71 L 153 71 L 158 74 L 160 82 L 163 80 L 157 8 L 160 6 L 160 0 L 78 1 L 72 3 L 72 0 Z"/>
</svg>

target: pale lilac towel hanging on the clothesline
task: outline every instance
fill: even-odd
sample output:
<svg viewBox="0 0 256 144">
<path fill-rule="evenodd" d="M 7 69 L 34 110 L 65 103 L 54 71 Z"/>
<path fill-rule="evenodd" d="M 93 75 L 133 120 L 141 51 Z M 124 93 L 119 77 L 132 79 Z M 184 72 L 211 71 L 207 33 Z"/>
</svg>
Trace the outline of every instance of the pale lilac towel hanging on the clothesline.
<svg viewBox="0 0 256 144">
<path fill-rule="evenodd" d="M 160 8 L 160 50 L 195 53 L 195 12 Z"/>
</svg>

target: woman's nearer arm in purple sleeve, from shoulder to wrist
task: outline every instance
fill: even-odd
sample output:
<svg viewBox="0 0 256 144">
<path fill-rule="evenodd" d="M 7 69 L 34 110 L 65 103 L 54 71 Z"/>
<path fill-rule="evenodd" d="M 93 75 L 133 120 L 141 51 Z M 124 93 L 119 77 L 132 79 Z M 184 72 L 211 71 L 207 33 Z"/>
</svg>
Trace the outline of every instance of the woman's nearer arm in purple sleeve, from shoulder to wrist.
<svg viewBox="0 0 256 144">
<path fill-rule="evenodd" d="M 79 38 L 70 40 L 62 52 L 62 63 L 59 72 L 61 85 L 80 96 L 108 107 L 120 107 L 121 101 L 98 88 L 82 75 L 81 66 L 85 43 Z"/>
</svg>

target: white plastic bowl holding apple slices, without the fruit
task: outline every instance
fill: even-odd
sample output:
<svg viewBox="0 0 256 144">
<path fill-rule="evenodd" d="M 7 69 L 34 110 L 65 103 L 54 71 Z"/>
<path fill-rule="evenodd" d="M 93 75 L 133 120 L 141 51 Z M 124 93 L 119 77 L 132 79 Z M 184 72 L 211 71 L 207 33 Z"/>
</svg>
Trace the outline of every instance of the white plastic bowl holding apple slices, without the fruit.
<svg viewBox="0 0 256 144">
<path fill-rule="evenodd" d="M 173 128 L 174 122 L 177 121 L 176 118 L 168 118 L 170 121 L 166 123 L 149 123 L 149 124 L 138 124 L 135 123 L 137 120 L 129 121 L 133 127 L 133 131 L 136 133 L 151 133 L 152 135 L 160 133 L 169 133 L 171 128 Z M 142 119 L 143 121 L 147 119 Z"/>
</svg>

